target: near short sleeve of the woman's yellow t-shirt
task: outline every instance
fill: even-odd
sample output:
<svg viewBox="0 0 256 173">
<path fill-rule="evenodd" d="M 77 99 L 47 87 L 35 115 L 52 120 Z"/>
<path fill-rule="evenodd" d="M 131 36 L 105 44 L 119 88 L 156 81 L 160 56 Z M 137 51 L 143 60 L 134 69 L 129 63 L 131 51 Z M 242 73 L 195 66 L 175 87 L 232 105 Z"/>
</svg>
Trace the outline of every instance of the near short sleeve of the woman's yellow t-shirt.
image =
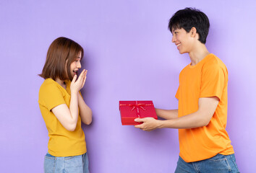
<svg viewBox="0 0 256 173">
<path fill-rule="evenodd" d="M 55 84 L 46 84 L 40 88 L 38 102 L 49 111 L 58 105 L 66 104 L 61 90 Z"/>
</svg>

